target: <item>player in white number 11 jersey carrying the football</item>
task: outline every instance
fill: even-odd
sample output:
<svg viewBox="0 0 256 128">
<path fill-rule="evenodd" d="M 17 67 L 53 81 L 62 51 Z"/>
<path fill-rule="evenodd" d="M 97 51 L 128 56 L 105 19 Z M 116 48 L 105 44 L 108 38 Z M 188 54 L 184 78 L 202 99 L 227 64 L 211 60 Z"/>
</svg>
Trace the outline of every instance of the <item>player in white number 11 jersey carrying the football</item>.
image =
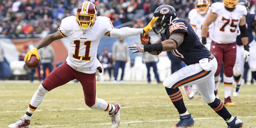
<svg viewBox="0 0 256 128">
<path fill-rule="evenodd" d="M 95 75 L 102 72 L 101 64 L 96 58 L 99 40 L 104 35 L 126 38 L 148 33 L 157 19 L 152 19 L 146 27 L 140 29 L 129 27 L 115 29 L 108 17 L 97 16 L 97 8 L 93 3 L 89 1 L 81 3 L 77 8 L 76 16 L 62 19 L 58 32 L 43 38 L 35 48 L 32 48 L 26 54 L 25 61 L 27 58 L 30 60 L 31 55 L 35 55 L 39 59 L 38 49 L 64 37 L 68 37 L 70 40 L 70 50 L 66 62 L 46 77 L 33 95 L 26 114 L 8 127 L 29 127 L 31 115 L 42 103 L 45 94 L 58 86 L 77 79 L 83 87 L 86 105 L 91 109 L 109 112 L 112 119 L 112 128 L 117 128 L 120 124 L 120 104 L 111 105 L 96 96 Z"/>
</svg>

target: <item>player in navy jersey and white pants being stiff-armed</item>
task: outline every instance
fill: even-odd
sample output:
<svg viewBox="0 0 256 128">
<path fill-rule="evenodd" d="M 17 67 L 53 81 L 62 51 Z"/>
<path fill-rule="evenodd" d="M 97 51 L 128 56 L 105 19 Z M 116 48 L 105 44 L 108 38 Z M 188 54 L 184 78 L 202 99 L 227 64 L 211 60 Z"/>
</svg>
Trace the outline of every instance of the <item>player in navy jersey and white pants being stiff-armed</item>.
<svg viewBox="0 0 256 128">
<path fill-rule="evenodd" d="M 155 43 L 141 40 L 142 44 L 129 45 L 129 48 L 133 50 L 132 53 L 147 51 L 154 55 L 161 51 L 172 51 L 186 63 L 186 67 L 166 77 L 163 82 L 167 94 L 180 115 L 180 121 L 173 128 L 187 128 L 194 125 L 195 121 L 187 111 L 179 90 L 179 87 L 192 84 L 196 84 L 203 102 L 226 121 L 228 128 L 242 127 L 243 122 L 233 117 L 223 102 L 214 95 L 214 73 L 218 65 L 216 58 L 202 44 L 189 22 L 178 18 L 175 9 L 169 5 L 159 6 L 154 11 L 154 17 L 158 19 L 153 30 L 156 34 L 160 33 L 161 39 Z"/>
</svg>

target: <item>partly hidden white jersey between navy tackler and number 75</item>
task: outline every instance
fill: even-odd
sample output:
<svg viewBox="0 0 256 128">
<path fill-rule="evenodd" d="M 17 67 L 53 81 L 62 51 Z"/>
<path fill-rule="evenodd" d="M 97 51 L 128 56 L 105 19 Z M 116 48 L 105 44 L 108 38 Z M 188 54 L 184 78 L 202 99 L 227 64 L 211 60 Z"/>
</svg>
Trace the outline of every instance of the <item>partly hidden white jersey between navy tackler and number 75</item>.
<svg viewBox="0 0 256 128">
<path fill-rule="evenodd" d="M 210 13 L 210 10 L 207 11 L 205 15 L 201 15 L 197 12 L 196 9 L 192 9 L 189 12 L 188 18 L 189 18 L 189 23 L 191 26 L 193 26 L 193 29 L 195 29 L 195 32 L 197 33 L 198 37 L 202 40 L 202 26 L 205 22 L 205 19 L 207 15 Z M 213 23 L 209 25 L 209 30 L 207 34 L 207 43 L 211 43 L 211 34 L 213 32 Z"/>
</svg>

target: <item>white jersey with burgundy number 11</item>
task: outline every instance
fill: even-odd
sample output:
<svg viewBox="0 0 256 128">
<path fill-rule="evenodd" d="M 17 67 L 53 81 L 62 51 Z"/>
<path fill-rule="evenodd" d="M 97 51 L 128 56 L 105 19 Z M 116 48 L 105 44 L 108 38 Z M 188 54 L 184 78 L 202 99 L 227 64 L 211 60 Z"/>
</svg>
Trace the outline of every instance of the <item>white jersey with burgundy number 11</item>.
<svg viewBox="0 0 256 128">
<path fill-rule="evenodd" d="M 99 40 L 113 29 L 108 17 L 97 16 L 95 24 L 87 31 L 77 26 L 75 16 L 61 21 L 59 32 L 70 40 L 67 63 L 79 72 L 93 74 L 97 70 L 97 49 Z"/>
</svg>

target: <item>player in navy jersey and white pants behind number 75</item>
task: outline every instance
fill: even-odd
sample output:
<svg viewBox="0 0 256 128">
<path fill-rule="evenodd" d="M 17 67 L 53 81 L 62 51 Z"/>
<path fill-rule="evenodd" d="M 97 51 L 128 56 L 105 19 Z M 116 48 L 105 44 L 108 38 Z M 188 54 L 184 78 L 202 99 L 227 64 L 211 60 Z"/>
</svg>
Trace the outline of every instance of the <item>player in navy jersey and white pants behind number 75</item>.
<svg viewBox="0 0 256 128">
<path fill-rule="evenodd" d="M 247 0 L 239 0 L 238 4 L 246 6 L 248 10 L 248 1 Z M 236 63 L 233 68 L 234 79 L 236 81 L 236 88 L 234 88 L 233 96 L 238 97 L 240 88 L 241 88 L 241 74 L 243 72 L 244 63 L 248 61 L 249 67 L 252 71 L 254 79 L 256 79 L 256 42 L 253 39 L 253 31 L 256 33 L 256 14 L 253 12 L 247 13 L 245 16 L 247 31 L 248 31 L 248 49 L 249 51 L 244 49 L 240 30 L 237 35 L 237 55 L 236 55 Z M 250 57 L 246 58 L 244 56 L 245 52 L 249 52 Z"/>
</svg>

